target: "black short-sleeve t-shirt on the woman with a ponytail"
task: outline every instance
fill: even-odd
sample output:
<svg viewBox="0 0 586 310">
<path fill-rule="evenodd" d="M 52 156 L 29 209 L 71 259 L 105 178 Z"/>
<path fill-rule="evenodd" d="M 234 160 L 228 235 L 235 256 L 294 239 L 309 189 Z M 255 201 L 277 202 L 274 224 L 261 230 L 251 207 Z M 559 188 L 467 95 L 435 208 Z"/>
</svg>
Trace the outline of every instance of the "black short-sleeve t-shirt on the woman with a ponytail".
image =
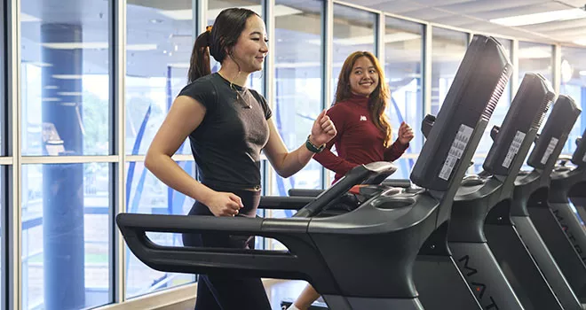
<svg viewBox="0 0 586 310">
<path fill-rule="evenodd" d="M 269 138 L 271 109 L 253 89 L 230 86 L 220 74 L 195 80 L 178 96 L 206 107 L 202 123 L 189 135 L 203 184 L 214 189 L 260 186 L 260 151 Z"/>
</svg>

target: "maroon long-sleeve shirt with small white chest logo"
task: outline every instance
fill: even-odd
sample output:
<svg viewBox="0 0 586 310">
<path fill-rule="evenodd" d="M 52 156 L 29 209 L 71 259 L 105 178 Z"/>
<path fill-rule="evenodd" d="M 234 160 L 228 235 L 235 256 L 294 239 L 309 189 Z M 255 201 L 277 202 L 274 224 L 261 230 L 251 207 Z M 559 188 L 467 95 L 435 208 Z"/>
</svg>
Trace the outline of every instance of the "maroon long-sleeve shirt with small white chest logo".
<svg viewBox="0 0 586 310">
<path fill-rule="evenodd" d="M 368 97 L 352 95 L 329 108 L 327 114 L 336 126 L 337 135 L 313 159 L 336 173 L 334 183 L 353 167 L 374 161 L 394 161 L 408 148 L 408 144 L 399 141 L 384 147 L 384 133 L 376 128 L 368 112 Z M 332 145 L 336 145 L 337 156 L 330 151 Z"/>
</svg>

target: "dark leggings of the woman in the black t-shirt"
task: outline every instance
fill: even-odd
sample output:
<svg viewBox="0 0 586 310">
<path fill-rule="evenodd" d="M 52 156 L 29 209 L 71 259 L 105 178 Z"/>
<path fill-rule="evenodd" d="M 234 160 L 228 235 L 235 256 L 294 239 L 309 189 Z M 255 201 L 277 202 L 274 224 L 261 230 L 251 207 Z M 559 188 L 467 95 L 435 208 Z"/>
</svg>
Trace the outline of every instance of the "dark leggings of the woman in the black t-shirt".
<svg viewBox="0 0 586 310">
<path fill-rule="evenodd" d="M 249 190 L 221 190 L 233 192 L 242 199 L 239 216 L 256 216 L 260 192 Z M 190 215 L 213 216 L 206 205 L 196 202 Z M 254 249 L 254 236 L 231 236 L 226 234 L 184 234 L 186 246 L 229 247 Z M 260 278 L 236 275 L 199 275 L 195 310 L 270 310 L 265 287 Z"/>
</svg>

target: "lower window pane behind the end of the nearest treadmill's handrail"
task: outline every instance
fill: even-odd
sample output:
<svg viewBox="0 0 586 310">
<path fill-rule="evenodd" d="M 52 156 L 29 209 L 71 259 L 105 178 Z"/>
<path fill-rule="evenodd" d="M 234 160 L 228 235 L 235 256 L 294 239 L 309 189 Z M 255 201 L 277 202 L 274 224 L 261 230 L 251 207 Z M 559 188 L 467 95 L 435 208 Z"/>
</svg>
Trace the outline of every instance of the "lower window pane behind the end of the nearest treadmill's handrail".
<svg viewBox="0 0 586 310">
<path fill-rule="evenodd" d="M 179 161 L 178 165 L 194 175 L 194 161 Z M 163 184 L 142 162 L 126 164 L 126 212 L 152 214 L 187 214 L 194 205 L 192 198 Z M 180 234 L 147 233 L 156 244 L 182 246 Z M 126 248 L 126 298 L 194 282 L 194 275 L 164 273 L 147 267 Z"/>
</svg>

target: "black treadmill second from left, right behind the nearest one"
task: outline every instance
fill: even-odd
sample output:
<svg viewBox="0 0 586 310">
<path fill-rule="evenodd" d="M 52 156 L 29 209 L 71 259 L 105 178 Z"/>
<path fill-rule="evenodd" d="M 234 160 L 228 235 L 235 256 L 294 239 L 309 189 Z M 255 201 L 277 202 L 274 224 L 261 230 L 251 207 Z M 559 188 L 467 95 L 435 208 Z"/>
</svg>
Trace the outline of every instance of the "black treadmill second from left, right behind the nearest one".
<svg viewBox="0 0 586 310">
<path fill-rule="evenodd" d="M 495 205 L 512 198 L 513 182 L 555 97 L 548 85 L 540 74 L 525 74 L 503 125 L 491 131 L 495 142 L 488 151 L 484 170 L 464 177 L 454 198 L 447 229 L 448 247 L 483 309 L 524 309 L 488 247 L 484 223 Z M 427 273 L 439 276 L 432 268 Z M 445 290 L 455 285 L 442 284 Z M 436 303 L 441 302 L 441 294 L 440 291 Z M 558 301 L 554 302 L 557 306 Z"/>
</svg>

